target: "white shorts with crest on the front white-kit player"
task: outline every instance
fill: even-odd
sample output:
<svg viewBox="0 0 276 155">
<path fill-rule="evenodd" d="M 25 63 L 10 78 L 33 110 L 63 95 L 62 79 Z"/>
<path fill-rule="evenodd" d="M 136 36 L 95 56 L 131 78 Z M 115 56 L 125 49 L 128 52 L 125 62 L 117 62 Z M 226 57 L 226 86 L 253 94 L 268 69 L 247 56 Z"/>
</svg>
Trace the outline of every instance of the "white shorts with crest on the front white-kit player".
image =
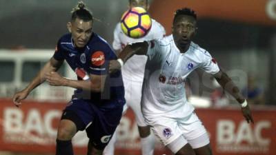
<svg viewBox="0 0 276 155">
<path fill-rule="evenodd" d="M 164 145 L 169 145 L 177 141 L 179 137 L 183 137 L 181 138 L 183 139 L 183 141 L 181 140 L 181 144 L 177 148 L 174 148 L 177 151 L 187 143 L 195 141 L 204 134 L 207 135 L 204 125 L 202 125 L 195 112 L 184 118 L 179 118 L 179 116 L 177 118 L 173 118 L 173 116 L 158 116 L 146 118 L 146 120 L 152 127 L 152 131 Z M 204 136 L 204 139 L 201 139 L 201 141 L 203 143 L 190 143 L 190 145 L 195 149 L 210 143 L 208 136 Z M 175 151 L 171 150 L 172 152 Z"/>
</svg>

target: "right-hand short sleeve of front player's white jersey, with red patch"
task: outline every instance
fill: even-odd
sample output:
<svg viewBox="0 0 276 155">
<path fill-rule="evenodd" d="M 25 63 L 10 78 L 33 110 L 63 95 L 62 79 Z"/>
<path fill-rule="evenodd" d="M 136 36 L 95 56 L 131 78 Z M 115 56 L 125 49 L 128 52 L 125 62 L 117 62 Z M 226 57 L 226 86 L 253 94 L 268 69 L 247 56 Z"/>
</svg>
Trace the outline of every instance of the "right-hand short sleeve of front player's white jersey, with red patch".
<svg viewBox="0 0 276 155">
<path fill-rule="evenodd" d="M 216 74 L 219 72 L 219 65 L 217 65 L 217 61 L 210 55 L 208 51 L 202 53 L 202 58 L 202 68 L 205 70 L 205 72 L 210 74 Z"/>
</svg>

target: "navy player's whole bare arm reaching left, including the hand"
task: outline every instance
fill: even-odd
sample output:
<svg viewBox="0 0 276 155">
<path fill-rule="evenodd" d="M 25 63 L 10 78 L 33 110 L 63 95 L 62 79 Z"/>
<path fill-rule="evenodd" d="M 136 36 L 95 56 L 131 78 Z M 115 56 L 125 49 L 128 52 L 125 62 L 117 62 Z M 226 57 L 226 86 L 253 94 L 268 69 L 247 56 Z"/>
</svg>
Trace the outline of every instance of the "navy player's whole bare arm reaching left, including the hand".
<svg viewBox="0 0 276 155">
<path fill-rule="evenodd" d="M 51 58 L 25 89 L 14 94 L 13 103 L 17 105 L 17 107 L 21 105 L 21 101 L 26 99 L 28 94 L 30 94 L 35 87 L 39 86 L 46 80 L 46 74 L 58 70 L 62 63 L 63 61 L 57 61 L 56 59 Z"/>
</svg>

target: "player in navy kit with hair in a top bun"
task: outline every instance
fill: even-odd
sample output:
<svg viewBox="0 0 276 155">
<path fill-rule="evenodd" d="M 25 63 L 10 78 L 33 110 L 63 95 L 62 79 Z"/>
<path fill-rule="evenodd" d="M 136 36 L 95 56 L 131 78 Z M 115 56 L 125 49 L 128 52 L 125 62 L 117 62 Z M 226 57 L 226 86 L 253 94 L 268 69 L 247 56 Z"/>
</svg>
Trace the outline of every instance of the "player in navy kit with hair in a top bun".
<svg viewBox="0 0 276 155">
<path fill-rule="evenodd" d="M 72 155 L 72 137 L 88 125 L 88 138 L 92 140 L 90 151 L 102 154 L 121 119 L 125 103 L 121 72 L 108 74 L 108 63 L 117 56 L 110 45 L 92 31 L 92 23 L 92 14 L 79 2 L 67 25 L 70 33 L 59 39 L 52 58 L 29 85 L 13 97 L 14 104 L 21 105 L 21 101 L 44 81 L 77 89 L 61 116 L 57 155 Z M 64 60 L 76 72 L 78 80 L 66 79 L 57 73 Z"/>
</svg>

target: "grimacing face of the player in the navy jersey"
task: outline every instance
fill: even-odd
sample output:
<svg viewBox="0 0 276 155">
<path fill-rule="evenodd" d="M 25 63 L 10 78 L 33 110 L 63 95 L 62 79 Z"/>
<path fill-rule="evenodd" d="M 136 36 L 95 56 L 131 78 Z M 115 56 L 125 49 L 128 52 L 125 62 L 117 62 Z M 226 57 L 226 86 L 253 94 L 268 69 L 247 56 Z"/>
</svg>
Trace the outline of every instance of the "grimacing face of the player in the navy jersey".
<svg viewBox="0 0 276 155">
<path fill-rule="evenodd" d="M 72 33 L 75 46 L 83 48 L 92 35 L 92 21 L 83 21 L 77 18 L 68 23 L 68 30 Z"/>
</svg>

